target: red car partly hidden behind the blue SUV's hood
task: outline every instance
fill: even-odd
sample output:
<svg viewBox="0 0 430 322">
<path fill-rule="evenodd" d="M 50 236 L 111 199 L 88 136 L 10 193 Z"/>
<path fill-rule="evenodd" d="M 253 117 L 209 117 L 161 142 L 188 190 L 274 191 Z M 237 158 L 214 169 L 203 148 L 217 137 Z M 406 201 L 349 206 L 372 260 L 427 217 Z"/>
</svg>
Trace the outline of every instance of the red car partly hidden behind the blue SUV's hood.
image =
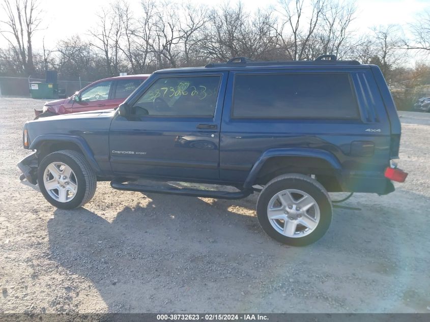
<svg viewBox="0 0 430 322">
<path fill-rule="evenodd" d="M 35 109 L 36 118 L 118 107 L 148 77 L 142 74 L 100 79 L 69 98 L 46 102 L 42 110 Z"/>
</svg>

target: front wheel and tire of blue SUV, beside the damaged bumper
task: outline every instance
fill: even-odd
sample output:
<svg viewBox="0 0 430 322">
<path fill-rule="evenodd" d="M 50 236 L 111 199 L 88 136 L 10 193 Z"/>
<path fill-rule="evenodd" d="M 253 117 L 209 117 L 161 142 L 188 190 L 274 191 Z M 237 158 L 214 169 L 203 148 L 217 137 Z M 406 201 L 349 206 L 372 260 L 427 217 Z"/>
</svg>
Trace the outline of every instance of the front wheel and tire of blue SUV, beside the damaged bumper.
<svg viewBox="0 0 430 322">
<path fill-rule="evenodd" d="M 47 155 L 39 165 L 37 181 L 45 199 L 60 209 L 83 206 L 94 196 L 97 186 L 87 160 L 73 150 Z"/>
</svg>

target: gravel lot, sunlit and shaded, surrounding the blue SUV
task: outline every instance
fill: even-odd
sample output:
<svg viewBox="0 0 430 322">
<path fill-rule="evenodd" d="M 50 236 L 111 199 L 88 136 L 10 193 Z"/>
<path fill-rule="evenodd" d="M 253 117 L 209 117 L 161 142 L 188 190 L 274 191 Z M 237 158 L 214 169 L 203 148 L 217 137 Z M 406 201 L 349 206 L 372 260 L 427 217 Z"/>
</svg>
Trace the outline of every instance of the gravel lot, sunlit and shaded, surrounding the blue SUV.
<svg viewBox="0 0 430 322">
<path fill-rule="evenodd" d="M 75 211 L 19 182 L 25 120 L 0 99 L 0 312 L 430 312 L 430 114 L 402 113 L 388 195 L 355 195 L 318 243 L 265 235 L 256 196 L 228 201 L 99 183 Z M 336 196 L 338 197 L 338 196 Z"/>
</svg>

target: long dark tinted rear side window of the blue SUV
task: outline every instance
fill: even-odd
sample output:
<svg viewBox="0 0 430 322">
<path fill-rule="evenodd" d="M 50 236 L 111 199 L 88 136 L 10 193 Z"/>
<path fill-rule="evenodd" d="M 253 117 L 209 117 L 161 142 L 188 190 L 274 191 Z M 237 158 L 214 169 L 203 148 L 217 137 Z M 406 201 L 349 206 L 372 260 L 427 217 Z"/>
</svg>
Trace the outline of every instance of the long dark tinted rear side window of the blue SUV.
<svg viewBox="0 0 430 322">
<path fill-rule="evenodd" d="M 348 74 L 236 75 L 234 118 L 358 118 Z"/>
</svg>

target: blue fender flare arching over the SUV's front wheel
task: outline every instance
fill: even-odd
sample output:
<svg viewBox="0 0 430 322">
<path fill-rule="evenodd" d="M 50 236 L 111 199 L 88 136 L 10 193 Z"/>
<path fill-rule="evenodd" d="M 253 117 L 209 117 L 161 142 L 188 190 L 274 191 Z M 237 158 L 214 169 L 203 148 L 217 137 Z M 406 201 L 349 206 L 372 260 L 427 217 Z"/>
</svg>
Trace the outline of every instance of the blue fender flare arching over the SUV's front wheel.
<svg viewBox="0 0 430 322">
<path fill-rule="evenodd" d="M 60 134 L 43 134 L 37 136 L 30 144 L 29 150 L 37 150 L 41 143 L 46 141 L 61 141 L 75 143 L 81 150 L 83 156 L 90 163 L 90 166 L 96 173 L 101 173 L 101 169 L 94 158 L 93 151 L 90 149 L 87 141 L 80 136 L 75 135 L 60 135 Z"/>
</svg>

